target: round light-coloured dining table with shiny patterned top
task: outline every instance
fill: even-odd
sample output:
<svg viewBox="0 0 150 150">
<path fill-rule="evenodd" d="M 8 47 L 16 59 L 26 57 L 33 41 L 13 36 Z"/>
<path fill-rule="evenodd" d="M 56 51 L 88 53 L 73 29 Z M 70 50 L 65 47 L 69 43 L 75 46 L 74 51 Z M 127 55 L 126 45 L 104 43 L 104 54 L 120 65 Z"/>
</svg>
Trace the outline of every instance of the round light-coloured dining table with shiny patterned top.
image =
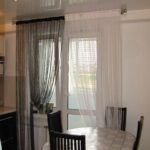
<svg viewBox="0 0 150 150">
<path fill-rule="evenodd" d="M 100 127 L 83 127 L 66 130 L 64 133 L 85 135 L 86 150 L 132 150 L 135 136 L 128 131 Z M 50 150 L 49 143 L 43 150 Z"/>
</svg>

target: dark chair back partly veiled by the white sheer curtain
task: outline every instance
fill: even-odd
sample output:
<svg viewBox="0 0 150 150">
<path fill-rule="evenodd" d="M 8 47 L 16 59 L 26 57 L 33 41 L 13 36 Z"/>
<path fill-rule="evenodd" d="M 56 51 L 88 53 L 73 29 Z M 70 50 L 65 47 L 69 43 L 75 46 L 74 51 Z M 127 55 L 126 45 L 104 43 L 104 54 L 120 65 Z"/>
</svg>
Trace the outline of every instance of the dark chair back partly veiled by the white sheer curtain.
<svg viewBox="0 0 150 150">
<path fill-rule="evenodd" d="M 117 116 L 117 119 L 115 115 Z M 106 127 L 125 131 L 126 117 L 127 117 L 126 107 L 106 107 L 106 111 L 105 111 Z"/>
</svg>

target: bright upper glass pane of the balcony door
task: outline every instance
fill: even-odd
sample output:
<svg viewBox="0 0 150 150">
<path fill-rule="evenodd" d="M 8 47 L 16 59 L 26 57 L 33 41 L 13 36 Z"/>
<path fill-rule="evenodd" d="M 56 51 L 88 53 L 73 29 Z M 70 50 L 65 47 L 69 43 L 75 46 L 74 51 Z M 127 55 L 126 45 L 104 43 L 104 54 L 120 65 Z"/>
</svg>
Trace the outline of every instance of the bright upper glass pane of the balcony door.
<svg viewBox="0 0 150 150">
<path fill-rule="evenodd" d="M 95 38 L 77 38 L 69 42 L 69 109 L 78 109 L 75 95 L 77 89 L 83 95 L 84 83 L 86 90 L 91 93 L 91 100 L 93 99 L 93 89 L 96 88 L 96 49 Z"/>
</svg>

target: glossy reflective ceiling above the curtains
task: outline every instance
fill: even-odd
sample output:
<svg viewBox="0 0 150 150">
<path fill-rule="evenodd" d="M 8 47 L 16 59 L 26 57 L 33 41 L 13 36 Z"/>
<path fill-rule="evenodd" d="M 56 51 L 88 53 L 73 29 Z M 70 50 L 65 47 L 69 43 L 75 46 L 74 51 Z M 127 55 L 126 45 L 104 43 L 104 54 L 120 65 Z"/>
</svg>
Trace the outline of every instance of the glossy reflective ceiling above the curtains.
<svg viewBox="0 0 150 150">
<path fill-rule="evenodd" d="M 150 0 L 0 0 L 0 24 L 97 10 L 150 9 Z"/>
</svg>

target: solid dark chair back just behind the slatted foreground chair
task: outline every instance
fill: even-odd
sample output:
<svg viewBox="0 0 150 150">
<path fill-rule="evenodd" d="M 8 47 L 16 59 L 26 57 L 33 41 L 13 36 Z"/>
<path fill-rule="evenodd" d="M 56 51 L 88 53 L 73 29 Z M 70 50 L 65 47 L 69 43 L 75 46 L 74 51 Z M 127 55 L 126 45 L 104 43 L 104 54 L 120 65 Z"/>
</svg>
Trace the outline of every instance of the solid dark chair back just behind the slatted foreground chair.
<svg viewBox="0 0 150 150">
<path fill-rule="evenodd" d="M 49 131 L 53 130 L 62 132 L 61 111 L 48 113 L 47 120 Z"/>
</svg>

